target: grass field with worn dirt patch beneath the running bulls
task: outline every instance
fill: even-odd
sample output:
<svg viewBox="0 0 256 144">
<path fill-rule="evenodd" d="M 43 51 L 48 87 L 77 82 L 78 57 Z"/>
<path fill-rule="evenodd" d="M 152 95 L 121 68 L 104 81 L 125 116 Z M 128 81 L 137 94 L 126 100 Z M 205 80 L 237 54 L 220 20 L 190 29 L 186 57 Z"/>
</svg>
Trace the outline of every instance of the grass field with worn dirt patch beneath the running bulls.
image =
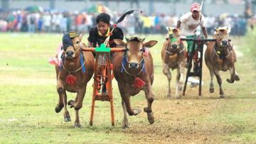
<svg viewBox="0 0 256 144">
<path fill-rule="evenodd" d="M 69 109 L 72 122 L 63 121 L 63 111 L 55 113 L 58 94 L 55 68 L 48 57 L 62 35 L 0 33 L 0 143 L 256 143 L 256 31 L 243 38 L 232 38 L 240 57 L 236 63 L 240 82 L 228 84 L 229 72 L 221 72 L 225 99 L 210 94 L 209 72 L 203 67 L 203 96 L 188 87 L 186 96 L 166 98 L 167 79 L 161 72 L 161 44 L 164 35 L 148 35 L 158 40 L 151 48 L 154 56 L 155 123 L 146 113 L 128 116 L 131 128 L 122 130 L 122 105 L 114 81 L 116 126 L 110 123 L 110 104 L 97 101 L 94 126 L 89 125 L 92 79 L 80 110 L 82 128 L 74 128 L 75 111 Z M 86 41 L 84 38 L 84 42 Z M 173 77 L 176 72 L 173 72 Z M 68 100 L 75 94 L 68 93 Z M 132 97 L 132 106 L 146 106 L 144 93 Z"/>
</svg>

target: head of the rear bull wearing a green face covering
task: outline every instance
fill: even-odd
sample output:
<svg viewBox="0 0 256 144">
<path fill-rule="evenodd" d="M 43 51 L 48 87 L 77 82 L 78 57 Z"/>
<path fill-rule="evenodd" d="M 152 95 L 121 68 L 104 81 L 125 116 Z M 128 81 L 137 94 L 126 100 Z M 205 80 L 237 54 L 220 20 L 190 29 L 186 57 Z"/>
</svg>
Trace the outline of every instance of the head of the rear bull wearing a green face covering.
<svg viewBox="0 0 256 144">
<path fill-rule="evenodd" d="M 182 50 L 183 45 L 181 45 L 181 34 L 180 30 L 178 28 L 171 28 L 171 27 L 166 27 L 168 33 L 169 33 L 169 45 L 166 48 L 168 52 L 178 52 Z"/>
</svg>

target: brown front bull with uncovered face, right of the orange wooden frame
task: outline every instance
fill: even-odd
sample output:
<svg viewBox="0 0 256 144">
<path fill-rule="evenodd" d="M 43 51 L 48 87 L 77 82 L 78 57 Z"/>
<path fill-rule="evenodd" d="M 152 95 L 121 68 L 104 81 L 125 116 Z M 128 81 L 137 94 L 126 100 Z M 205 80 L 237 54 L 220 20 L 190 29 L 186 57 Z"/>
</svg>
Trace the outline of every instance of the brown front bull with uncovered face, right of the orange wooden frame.
<svg viewBox="0 0 256 144">
<path fill-rule="evenodd" d="M 122 127 L 129 126 L 127 113 L 136 116 L 141 112 L 139 109 L 132 109 L 130 96 L 138 94 L 141 90 L 145 92 L 148 106 L 144 108 L 147 113 L 149 123 L 154 123 L 154 114 L 151 109 L 154 101 L 152 84 L 154 80 L 154 65 L 151 53 L 144 56 L 146 48 L 151 48 L 157 41 L 150 40 L 143 43 L 144 39 L 137 37 L 127 39 L 127 43 L 122 40 L 114 40 L 117 45 L 127 48 L 127 52 L 116 52 L 114 55 L 114 78 L 117 79 L 119 92 L 122 97 L 122 108 L 124 119 Z"/>
</svg>

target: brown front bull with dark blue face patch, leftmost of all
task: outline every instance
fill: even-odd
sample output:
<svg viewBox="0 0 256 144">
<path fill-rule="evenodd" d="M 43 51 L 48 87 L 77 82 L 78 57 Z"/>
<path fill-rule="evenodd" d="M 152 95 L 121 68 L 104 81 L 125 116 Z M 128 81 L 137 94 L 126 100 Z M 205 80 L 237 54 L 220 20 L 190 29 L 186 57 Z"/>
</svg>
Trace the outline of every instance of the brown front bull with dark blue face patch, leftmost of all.
<svg viewBox="0 0 256 144">
<path fill-rule="evenodd" d="M 60 67 L 55 67 L 59 95 L 55 111 L 59 113 L 64 107 L 64 120 L 65 122 L 71 121 L 66 106 L 66 91 L 77 93 L 75 101 L 68 101 L 68 105 L 75 109 L 75 127 L 80 127 L 78 111 L 82 108 L 87 82 L 94 72 L 95 62 L 92 52 L 82 52 L 80 49 L 80 46 L 85 47 L 85 44 L 80 43 L 81 39 L 82 37 L 78 37 L 78 34 L 73 32 L 63 35 L 63 61 Z"/>
</svg>

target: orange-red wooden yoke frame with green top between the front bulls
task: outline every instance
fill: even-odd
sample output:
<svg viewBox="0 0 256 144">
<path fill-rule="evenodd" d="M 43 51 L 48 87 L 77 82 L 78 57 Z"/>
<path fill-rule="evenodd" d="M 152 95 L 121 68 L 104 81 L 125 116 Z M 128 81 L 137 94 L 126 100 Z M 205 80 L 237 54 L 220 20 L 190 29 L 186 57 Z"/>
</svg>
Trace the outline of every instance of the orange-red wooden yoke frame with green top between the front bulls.
<svg viewBox="0 0 256 144">
<path fill-rule="evenodd" d="M 100 48 L 82 48 L 82 50 L 96 53 L 90 126 L 92 126 L 93 123 L 95 101 L 110 101 L 111 122 L 112 126 L 114 126 L 114 100 L 112 95 L 112 69 L 110 67 L 110 52 L 124 52 L 126 49 L 107 48 L 105 43 L 102 43 Z M 107 89 L 107 92 L 104 93 L 102 93 L 103 84 L 106 84 Z"/>
</svg>

